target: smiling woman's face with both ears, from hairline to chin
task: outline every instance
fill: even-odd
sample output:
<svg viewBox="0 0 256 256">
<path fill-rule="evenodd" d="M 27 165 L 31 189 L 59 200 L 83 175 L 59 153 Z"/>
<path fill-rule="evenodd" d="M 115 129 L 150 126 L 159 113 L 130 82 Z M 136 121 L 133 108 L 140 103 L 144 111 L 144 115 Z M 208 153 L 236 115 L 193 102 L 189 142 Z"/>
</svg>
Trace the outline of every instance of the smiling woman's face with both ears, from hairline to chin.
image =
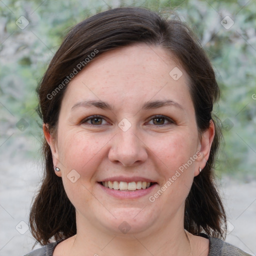
<svg viewBox="0 0 256 256">
<path fill-rule="evenodd" d="M 183 223 L 214 127 L 199 136 L 187 74 L 166 50 L 137 44 L 103 53 L 78 73 L 55 139 L 46 133 L 77 223 L 121 234 Z"/>
</svg>

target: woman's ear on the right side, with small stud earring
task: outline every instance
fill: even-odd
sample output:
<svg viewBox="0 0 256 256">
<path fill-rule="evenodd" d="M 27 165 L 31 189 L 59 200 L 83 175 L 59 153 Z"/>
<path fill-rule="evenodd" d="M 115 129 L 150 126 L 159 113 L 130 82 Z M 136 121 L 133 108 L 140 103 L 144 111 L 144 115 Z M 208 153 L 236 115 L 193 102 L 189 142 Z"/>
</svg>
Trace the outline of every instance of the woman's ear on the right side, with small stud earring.
<svg viewBox="0 0 256 256">
<path fill-rule="evenodd" d="M 197 154 L 198 168 L 194 170 L 194 176 L 199 174 L 199 171 L 198 171 L 199 167 L 203 169 L 206 165 L 206 162 L 209 158 L 210 148 L 214 138 L 214 134 L 215 134 L 214 122 L 210 120 L 208 129 L 205 130 L 200 137 L 199 150 L 198 150 L 199 152 Z"/>
</svg>

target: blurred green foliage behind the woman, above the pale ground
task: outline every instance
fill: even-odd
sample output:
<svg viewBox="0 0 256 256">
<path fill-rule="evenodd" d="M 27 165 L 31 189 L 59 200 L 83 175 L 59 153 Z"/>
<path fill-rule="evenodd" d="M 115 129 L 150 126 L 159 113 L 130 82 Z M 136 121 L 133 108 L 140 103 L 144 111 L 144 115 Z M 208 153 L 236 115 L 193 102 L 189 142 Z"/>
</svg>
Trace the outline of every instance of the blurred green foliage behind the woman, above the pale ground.
<svg viewBox="0 0 256 256">
<path fill-rule="evenodd" d="M 70 27 L 117 6 L 143 6 L 164 15 L 174 9 L 188 23 L 212 61 L 221 90 L 214 111 L 222 122 L 225 143 L 216 169 L 239 178 L 255 177 L 256 2 L 248 0 L 1 0 L 0 144 L 6 142 L 0 150 L 16 153 L 17 147 L 11 145 L 22 136 L 20 152 L 38 153 L 34 148 L 42 134 L 35 88 L 47 64 Z M 15 23 L 21 15 L 29 21 L 24 29 Z M 234 21 L 229 29 L 220 22 L 226 15 Z M 21 118 L 29 123 L 24 131 L 16 127 Z"/>
</svg>

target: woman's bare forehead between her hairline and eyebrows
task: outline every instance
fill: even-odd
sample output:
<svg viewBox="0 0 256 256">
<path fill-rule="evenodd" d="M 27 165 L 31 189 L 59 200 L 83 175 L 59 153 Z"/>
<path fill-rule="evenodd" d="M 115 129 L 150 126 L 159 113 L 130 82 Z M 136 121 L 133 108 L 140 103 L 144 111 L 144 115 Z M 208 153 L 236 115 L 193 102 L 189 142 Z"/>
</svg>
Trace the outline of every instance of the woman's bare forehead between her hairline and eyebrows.
<svg viewBox="0 0 256 256">
<path fill-rule="evenodd" d="M 88 98 L 126 106 L 150 99 L 191 101 L 185 71 L 166 49 L 147 44 L 120 47 L 93 59 L 70 81 L 63 101 Z"/>
</svg>

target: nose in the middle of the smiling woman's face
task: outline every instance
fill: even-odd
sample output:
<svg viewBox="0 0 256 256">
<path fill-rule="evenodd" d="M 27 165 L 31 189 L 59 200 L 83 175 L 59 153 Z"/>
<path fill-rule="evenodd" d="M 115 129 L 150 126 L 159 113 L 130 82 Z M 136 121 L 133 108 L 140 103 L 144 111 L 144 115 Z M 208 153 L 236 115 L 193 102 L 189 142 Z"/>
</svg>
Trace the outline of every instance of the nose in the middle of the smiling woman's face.
<svg viewBox="0 0 256 256">
<path fill-rule="evenodd" d="M 146 145 L 131 127 L 126 131 L 118 128 L 111 140 L 108 159 L 123 166 L 135 166 L 147 159 Z"/>
</svg>

